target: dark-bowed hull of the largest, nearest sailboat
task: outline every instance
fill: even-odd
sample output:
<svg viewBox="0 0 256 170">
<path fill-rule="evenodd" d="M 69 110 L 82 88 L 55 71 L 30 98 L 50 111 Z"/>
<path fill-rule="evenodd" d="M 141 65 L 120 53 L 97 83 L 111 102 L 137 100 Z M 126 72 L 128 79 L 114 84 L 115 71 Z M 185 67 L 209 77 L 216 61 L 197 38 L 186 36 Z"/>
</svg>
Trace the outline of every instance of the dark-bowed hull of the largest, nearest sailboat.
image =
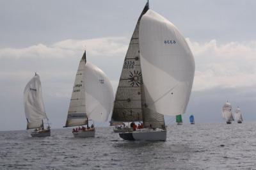
<svg viewBox="0 0 256 170">
<path fill-rule="evenodd" d="M 134 132 L 120 133 L 125 141 L 166 141 L 166 130 L 138 130 Z"/>
</svg>

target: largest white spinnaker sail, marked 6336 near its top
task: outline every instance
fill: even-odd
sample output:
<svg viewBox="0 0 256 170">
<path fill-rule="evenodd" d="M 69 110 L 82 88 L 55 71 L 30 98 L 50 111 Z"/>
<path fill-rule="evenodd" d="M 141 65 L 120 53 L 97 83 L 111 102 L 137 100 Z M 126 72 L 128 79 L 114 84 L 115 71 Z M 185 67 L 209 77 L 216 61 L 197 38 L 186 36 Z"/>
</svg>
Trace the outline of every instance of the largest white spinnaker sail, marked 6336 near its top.
<svg viewBox="0 0 256 170">
<path fill-rule="evenodd" d="M 165 115 L 183 114 L 195 73 L 188 43 L 170 21 L 152 10 L 141 18 L 139 36 L 148 108 Z"/>
</svg>

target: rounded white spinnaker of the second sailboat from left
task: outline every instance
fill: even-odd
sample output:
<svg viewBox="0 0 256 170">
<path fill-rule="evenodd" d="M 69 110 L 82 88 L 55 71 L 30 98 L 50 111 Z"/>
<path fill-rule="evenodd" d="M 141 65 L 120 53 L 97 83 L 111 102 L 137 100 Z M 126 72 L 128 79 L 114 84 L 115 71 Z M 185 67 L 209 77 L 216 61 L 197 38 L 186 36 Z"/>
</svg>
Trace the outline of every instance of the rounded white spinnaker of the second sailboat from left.
<svg viewBox="0 0 256 170">
<path fill-rule="evenodd" d="M 93 121 L 108 120 L 113 109 L 114 93 L 107 75 L 92 63 L 86 63 L 85 77 L 85 104 L 86 114 Z"/>
</svg>

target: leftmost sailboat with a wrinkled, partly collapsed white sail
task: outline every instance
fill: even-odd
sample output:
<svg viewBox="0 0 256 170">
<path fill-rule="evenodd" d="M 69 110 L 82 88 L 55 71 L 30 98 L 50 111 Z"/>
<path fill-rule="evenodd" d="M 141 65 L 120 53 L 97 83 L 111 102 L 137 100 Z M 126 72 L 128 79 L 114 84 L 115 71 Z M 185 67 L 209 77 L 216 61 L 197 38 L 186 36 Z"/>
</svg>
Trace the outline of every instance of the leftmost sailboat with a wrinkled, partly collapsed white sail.
<svg viewBox="0 0 256 170">
<path fill-rule="evenodd" d="M 45 137 L 51 135 L 51 129 L 46 116 L 40 77 L 37 73 L 28 82 L 24 89 L 24 108 L 27 120 L 27 130 L 35 129 L 31 132 L 32 137 Z M 48 124 L 44 127 L 44 121 Z"/>
</svg>

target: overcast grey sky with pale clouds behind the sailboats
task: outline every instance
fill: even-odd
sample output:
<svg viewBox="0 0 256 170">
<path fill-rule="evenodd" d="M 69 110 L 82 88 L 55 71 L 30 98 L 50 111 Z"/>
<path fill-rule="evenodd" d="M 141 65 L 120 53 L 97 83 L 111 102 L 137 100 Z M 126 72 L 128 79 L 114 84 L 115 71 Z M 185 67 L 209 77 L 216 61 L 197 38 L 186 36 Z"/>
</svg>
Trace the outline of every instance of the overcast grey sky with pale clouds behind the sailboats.
<svg viewBox="0 0 256 170">
<path fill-rule="evenodd" d="M 23 91 L 38 72 L 52 128 L 61 128 L 84 49 L 114 90 L 145 0 L 0 1 L 0 130 L 26 128 Z M 150 0 L 150 9 L 178 27 L 195 57 L 186 114 L 225 122 L 228 100 L 256 120 L 256 1 Z M 172 123 L 167 118 L 167 123 Z"/>
</svg>

